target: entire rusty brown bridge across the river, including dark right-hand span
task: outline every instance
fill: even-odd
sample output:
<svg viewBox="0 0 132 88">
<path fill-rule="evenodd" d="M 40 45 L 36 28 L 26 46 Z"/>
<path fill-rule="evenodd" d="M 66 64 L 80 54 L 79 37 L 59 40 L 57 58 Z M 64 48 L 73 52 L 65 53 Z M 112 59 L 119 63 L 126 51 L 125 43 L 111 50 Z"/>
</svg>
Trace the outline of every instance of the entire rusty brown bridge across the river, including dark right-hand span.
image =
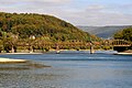
<svg viewBox="0 0 132 88">
<path fill-rule="evenodd" d="M 34 47 L 37 48 L 54 48 L 57 53 L 59 53 L 59 50 L 81 50 L 81 48 L 89 48 L 90 53 L 92 54 L 95 52 L 96 46 L 112 46 L 114 51 L 122 52 L 129 48 L 132 48 L 132 42 L 128 42 L 124 40 L 107 40 L 102 42 L 82 42 L 82 41 L 70 41 L 70 42 L 57 42 L 57 43 L 48 43 L 48 42 L 37 42 L 37 41 L 31 41 L 29 43 L 18 42 L 16 46 L 23 46 L 28 47 L 30 52 L 33 52 Z M 14 52 L 14 48 L 12 48 L 12 52 Z"/>
</svg>

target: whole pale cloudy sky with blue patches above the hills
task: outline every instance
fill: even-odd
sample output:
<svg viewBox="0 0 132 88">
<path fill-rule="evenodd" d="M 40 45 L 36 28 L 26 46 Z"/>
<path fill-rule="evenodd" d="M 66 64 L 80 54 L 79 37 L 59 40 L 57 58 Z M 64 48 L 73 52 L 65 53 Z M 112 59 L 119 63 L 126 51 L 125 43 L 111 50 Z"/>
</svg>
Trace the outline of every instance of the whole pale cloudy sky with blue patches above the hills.
<svg viewBox="0 0 132 88">
<path fill-rule="evenodd" d="M 132 25 L 132 0 L 0 0 L 0 12 L 50 14 L 74 25 Z"/>
</svg>

